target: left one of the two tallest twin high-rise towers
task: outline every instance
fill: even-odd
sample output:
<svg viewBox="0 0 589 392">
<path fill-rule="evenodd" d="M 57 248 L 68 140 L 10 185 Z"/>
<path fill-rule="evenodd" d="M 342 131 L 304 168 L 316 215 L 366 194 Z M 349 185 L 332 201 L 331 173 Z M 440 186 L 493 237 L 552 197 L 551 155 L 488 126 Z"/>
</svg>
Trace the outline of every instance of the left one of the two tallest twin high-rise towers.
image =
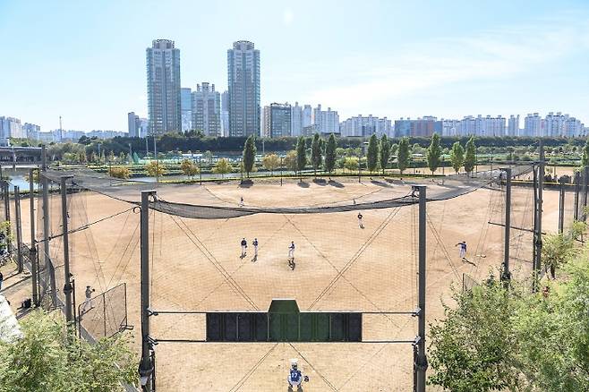
<svg viewBox="0 0 589 392">
<path fill-rule="evenodd" d="M 180 49 L 172 40 L 154 39 L 146 55 L 149 134 L 180 132 Z"/>
</svg>

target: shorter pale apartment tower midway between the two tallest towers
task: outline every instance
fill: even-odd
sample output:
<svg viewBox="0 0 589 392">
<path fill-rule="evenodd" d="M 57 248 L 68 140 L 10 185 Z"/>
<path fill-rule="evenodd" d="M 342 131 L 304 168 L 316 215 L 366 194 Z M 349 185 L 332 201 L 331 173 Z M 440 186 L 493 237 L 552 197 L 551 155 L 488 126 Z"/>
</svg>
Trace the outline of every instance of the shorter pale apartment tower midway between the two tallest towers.
<svg viewBox="0 0 589 392">
<path fill-rule="evenodd" d="M 221 95 L 214 84 L 204 81 L 192 91 L 192 126 L 206 136 L 222 136 Z"/>
</svg>

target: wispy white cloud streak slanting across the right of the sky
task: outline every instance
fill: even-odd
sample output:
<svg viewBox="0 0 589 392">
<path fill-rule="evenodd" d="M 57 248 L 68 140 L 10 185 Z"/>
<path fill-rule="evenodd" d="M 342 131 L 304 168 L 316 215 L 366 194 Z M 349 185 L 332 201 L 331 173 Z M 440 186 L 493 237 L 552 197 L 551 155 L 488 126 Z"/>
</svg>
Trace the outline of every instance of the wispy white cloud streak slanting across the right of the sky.
<svg viewBox="0 0 589 392">
<path fill-rule="evenodd" d="M 340 60 L 327 74 L 333 86 L 311 91 L 311 102 L 356 115 L 383 107 L 383 101 L 451 90 L 453 83 L 500 81 L 557 63 L 589 44 L 589 25 L 559 18 L 535 25 L 489 30 L 465 38 L 438 38 L 399 47 L 374 64 L 363 58 Z M 339 76 L 338 76 L 339 75 Z M 324 84 L 325 85 L 325 84 Z"/>
</svg>

